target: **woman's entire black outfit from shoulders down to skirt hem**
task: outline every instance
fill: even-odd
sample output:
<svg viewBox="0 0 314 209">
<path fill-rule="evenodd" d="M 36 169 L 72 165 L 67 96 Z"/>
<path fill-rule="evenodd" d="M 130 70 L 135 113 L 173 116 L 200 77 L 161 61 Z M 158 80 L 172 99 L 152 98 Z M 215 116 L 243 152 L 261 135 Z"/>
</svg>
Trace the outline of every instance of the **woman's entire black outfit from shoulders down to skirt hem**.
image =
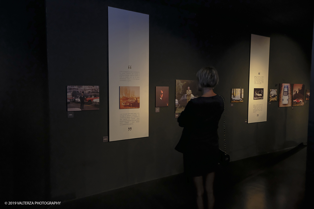
<svg viewBox="0 0 314 209">
<path fill-rule="evenodd" d="M 221 96 L 191 99 L 178 117 L 184 127 L 176 150 L 183 153 L 184 172 L 202 176 L 215 171 L 218 161 L 218 123 L 224 111 Z"/>
</svg>

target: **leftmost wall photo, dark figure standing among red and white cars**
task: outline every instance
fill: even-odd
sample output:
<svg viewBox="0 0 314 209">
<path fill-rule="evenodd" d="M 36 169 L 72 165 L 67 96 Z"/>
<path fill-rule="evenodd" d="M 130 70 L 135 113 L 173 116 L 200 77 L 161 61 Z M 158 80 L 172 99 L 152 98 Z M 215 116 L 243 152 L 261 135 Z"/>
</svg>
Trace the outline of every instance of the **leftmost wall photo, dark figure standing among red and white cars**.
<svg viewBox="0 0 314 209">
<path fill-rule="evenodd" d="M 99 99 L 99 86 L 67 86 L 67 111 L 99 110 L 93 103 Z"/>
</svg>

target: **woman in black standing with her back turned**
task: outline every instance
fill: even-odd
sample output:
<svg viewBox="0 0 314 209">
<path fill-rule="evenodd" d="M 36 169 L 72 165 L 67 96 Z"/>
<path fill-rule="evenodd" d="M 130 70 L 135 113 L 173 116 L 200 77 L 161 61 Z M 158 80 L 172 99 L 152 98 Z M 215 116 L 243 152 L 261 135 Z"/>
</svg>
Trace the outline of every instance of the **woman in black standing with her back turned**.
<svg viewBox="0 0 314 209">
<path fill-rule="evenodd" d="M 206 205 L 214 206 L 214 172 L 219 154 L 217 129 L 224 99 L 213 91 L 219 81 L 214 67 L 203 67 L 197 78 L 203 95 L 191 99 L 178 117 L 179 126 L 184 128 L 175 149 L 183 153 L 184 172 L 192 177 L 197 206 L 203 209 Z"/>
</svg>

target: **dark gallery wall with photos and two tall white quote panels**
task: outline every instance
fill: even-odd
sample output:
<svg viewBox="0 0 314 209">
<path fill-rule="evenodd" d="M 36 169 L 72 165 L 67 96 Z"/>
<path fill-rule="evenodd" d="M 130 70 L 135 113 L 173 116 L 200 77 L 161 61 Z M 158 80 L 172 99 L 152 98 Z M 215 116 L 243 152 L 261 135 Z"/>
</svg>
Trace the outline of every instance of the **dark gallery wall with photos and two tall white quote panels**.
<svg viewBox="0 0 314 209">
<path fill-rule="evenodd" d="M 108 6 L 149 14 L 146 138 L 102 142 L 110 114 Z M 174 150 L 182 129 L 171 101 L 175 80 L 195 79 L 203 66 L 219 71 L 215 92 L 226 99 L 227 152 L 232 160 L 306 142 L 308 102 L 294 108 L 278 108 L 273 102 L 268 104 L 267 122 L 245 123 L 251 34 L 270 37 L 268 88 L 278 89 L 279 83 L 310 88 L 313 11 L 309 22 L 283 24 L 280 18 L 269 18 L 265 7 L 258 1 L 47 0 L 52 198 L 79 198 L 183 172 L 182 154 Z M 67 85 L 99 85 L 100 110 L 74 112 L 74 118 L 67 118 Z M 169 86 L 170 104 L 160 113 L 154 111 L 155 86 Z M 244 88 L 243 103 L 230 106 L 231 88 Z M 222 139 L 222 128 L 219 135 Z"/>
</svg>

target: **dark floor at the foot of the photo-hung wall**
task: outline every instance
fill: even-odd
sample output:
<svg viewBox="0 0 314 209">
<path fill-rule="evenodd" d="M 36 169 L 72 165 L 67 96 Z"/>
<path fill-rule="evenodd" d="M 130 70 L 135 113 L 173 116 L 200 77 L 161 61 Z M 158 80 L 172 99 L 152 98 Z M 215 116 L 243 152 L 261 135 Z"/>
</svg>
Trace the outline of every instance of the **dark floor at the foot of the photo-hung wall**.
<svg viewBox="0 0 314 209">
<path fill-rule="evenodd" d="M 268 153 L 220 166 L 215 177 L 215 208 L 289 209 L 304 198 L 306 149 Z M 313 197 L 314 198 L 314 197 Z M 195 208 L 185 175 L 177 174 L 111 190 L 51 209 L 66 208 Z"/>
</svg>

